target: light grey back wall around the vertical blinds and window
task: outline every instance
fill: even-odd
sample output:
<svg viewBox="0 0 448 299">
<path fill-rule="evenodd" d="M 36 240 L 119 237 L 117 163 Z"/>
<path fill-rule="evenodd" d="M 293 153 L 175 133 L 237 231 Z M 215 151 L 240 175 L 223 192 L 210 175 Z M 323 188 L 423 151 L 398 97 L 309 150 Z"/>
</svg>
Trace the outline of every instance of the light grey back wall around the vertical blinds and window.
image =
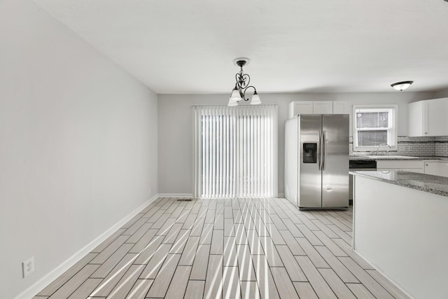
<svg viewBox="0 0 448 299">
<path fill-rule="evenodd" d="M 231 89 L 232 87 L 230 87 Z M 159 95 L 159 192 L 193 193 L 191 105 L 227 105 L 230 95 Z M 407 103 L 433 98 L 433 92 L 260 94 L 265 104 L 279 105 L 279 193 L 283 193 L 284 123 L 293 101 L 344 101 L 353 104 L 398 104 L 398 135 L 407 135 Z"/>
</svg>

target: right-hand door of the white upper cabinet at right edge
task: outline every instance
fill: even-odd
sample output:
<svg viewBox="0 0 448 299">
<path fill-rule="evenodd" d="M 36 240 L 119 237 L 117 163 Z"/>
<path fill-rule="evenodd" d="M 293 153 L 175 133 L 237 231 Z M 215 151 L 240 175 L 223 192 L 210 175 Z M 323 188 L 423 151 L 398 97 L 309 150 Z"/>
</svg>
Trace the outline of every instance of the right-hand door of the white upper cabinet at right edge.
<svg viewBox="0 0 448 299">
<path fill-rule="evenodd" d="M 423 136 L 448 135 L 447 99 L 430 99 L 426 102 L 428 102 L 428 112 L 426 113 L 426 121 L 424 123 L 428 124 L 428 130 L 423 132 Z"/>
</svg>

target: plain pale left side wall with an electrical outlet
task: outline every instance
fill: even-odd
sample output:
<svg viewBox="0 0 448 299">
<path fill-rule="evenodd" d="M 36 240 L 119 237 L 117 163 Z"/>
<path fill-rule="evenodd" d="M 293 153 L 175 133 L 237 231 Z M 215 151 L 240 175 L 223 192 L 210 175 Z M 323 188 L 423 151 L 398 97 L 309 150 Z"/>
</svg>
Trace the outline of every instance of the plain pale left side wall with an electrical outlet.
<svg viewBox="0 0 448 299">
<path fill-rule="evenodd" d="M 154 92 L 31 1 L 0 1 L 0 298 L 158 193 L 157 135 Z"/>
</svg>

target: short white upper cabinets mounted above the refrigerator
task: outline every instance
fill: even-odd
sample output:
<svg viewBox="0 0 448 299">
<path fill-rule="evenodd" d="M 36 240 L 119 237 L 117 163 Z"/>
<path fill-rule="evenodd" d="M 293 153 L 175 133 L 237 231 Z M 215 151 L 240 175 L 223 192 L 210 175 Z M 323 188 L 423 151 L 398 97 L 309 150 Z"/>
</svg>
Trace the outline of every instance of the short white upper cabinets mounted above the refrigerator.
<svg viewBox="0 0 448 299">
<path fill-rule="evenodd" d="M 332 101 L 297 101 L 290 102 L 288 118 L 299 114 L 344 114 L 344 102 Z"/>
</svg>

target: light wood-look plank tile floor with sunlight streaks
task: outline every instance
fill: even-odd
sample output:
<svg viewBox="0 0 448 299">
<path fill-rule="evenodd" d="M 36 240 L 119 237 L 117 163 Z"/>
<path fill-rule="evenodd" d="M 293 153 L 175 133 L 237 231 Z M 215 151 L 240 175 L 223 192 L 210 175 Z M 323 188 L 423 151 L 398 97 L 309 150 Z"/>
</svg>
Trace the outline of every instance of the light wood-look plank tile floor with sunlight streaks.
<svg viewBox="0 0 448 299">
<path fill-rule="evenodd" d="M 158 198 L 34 298 L 408 298 L 351 251 L 352 218 Z"/>
</svg>

